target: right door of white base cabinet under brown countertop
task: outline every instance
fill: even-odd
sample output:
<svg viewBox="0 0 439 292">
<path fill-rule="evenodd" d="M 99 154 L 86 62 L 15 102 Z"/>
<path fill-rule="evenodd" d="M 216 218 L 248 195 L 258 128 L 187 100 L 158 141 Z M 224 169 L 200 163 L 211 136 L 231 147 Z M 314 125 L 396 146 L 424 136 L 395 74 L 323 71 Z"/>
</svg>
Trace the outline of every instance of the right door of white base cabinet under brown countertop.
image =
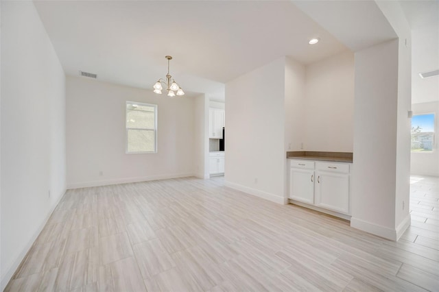
<svg viewBox="0 0 439 292">
<path fill-rule="evenodd" d="M 349 214 L 349 175 L 316 171 L 316 206 Z"/>
</svg>

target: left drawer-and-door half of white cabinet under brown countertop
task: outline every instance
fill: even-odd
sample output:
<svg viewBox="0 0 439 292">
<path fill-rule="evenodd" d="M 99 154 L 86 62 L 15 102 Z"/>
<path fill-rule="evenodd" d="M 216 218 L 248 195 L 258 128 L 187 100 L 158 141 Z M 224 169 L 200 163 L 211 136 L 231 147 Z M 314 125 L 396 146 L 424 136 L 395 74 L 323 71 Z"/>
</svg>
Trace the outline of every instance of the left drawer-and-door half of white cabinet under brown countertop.
<svg viewBox="0 0 439 292">
<path fill-rule="evenodd" d="M 314 204 L 314 162 L 290 160 L 289 198 Z"/>
</svg>

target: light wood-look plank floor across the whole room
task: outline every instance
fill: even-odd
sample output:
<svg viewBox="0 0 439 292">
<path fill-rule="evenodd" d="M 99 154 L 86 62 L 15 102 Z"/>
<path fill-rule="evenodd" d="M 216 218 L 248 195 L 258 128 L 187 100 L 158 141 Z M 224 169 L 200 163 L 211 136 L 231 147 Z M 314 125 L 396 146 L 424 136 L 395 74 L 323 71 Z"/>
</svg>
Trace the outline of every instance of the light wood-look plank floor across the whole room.
<svg viewBox="0 0 439 292">
<path fill-rule="evenodd" d="M 439 183 L 398 242 L 195 178 L 67 191 L 6 291 L 439 291 Z"/>
</svg>

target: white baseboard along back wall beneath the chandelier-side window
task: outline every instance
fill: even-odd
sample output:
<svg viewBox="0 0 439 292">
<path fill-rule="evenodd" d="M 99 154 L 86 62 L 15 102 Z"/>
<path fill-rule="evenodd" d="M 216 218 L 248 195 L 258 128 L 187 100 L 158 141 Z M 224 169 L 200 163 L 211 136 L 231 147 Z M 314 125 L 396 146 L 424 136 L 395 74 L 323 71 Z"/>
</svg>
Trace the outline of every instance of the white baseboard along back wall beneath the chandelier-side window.
<svg viewBox="0 0 439 292">
<path fill-rule="evenodd" d="M 187 178 L 193 176 L 193 173 L 172 173 L 165 175 L 150 175 L 136 178 L 117 178 L 112 180 L 95 180 L 92 182 L 73 182 L 67 184 L 67 189 L 88 188 L 91 186 L 108 186 L 110 184 L 128 184 L 130 182 L 147 182 L 150 180 L 168 180 L 171 178 Z"/>
</svg>

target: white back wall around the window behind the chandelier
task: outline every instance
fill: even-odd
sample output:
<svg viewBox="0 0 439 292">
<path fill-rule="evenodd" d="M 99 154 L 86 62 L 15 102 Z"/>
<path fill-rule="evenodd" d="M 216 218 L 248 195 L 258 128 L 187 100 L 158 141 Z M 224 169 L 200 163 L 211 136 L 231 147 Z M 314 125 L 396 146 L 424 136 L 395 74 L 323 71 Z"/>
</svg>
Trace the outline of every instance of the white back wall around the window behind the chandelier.
<svg viewBox="0 0 439 292">
<path fill-rule="evenodd" d="M 126 101 L 158 105 L 156 154 L 125 153 Z M 68 76 L 67 187 L 193 175 L 193 108 L 190 97 Z"/>
</svg>

